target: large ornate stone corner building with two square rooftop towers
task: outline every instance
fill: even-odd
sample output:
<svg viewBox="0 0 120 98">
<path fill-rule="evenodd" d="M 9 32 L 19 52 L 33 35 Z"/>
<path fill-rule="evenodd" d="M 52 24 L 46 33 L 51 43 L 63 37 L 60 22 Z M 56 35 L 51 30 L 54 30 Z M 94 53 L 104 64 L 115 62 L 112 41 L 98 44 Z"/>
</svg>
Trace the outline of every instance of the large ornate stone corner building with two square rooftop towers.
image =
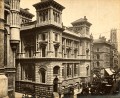
<svg viewBox="0 0 120 98">
<path fill-rule="evenodd" d="M 87 18 L 64 27 L 64 7 L 54 0 L 33 5 L 36 21 L 21 25 L 16 57 L 16 91 L 49 97 L 90 82 L 91 23 Z M 77 92 L 79 93 L 79 92 Z"/>
</svg>

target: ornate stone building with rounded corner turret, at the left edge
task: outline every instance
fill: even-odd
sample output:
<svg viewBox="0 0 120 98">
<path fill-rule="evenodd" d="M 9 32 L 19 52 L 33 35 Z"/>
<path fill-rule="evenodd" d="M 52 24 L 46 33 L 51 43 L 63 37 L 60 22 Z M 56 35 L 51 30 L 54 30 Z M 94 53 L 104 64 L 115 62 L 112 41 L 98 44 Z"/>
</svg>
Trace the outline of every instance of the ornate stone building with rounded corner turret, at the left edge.
<svg viewBox="0 0 120 98">
<path fill-rule="evenodd" d="M 8 97 L 15 98 L 15 58 L 20 42 L 20 27 L 21 23 L 31 21 L 33 15 L 27 9 L 20 8 L 20 0 L 1 0 L 0 4 L 0 73 L 7 77 Z"/>
</svg>

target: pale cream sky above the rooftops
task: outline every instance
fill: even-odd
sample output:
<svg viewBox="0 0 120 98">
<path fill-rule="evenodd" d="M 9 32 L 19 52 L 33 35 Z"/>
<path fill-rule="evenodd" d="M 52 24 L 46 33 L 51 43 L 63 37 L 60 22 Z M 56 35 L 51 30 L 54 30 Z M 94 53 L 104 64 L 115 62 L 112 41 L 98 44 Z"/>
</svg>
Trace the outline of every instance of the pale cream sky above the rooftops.
<svg viewBox="0 0 120 98">
<path fill-rule="evenodd" d="M 22 8 L 29 8 L 36 15 L 32 6 L 41 0 L 21 0 Z M 110 30 L 117 29 L 118 47 L 120 51 L 120 0 L 55 0 L 65 7 L 62 21 L 65 26 L 71 26 L 71 22 L 87 17 L 92 23 L 90 32 L 95 39 L 99 36 L 110 38 Z M 35 20 L 36 17 L 33 18 Z"/>
</svg>

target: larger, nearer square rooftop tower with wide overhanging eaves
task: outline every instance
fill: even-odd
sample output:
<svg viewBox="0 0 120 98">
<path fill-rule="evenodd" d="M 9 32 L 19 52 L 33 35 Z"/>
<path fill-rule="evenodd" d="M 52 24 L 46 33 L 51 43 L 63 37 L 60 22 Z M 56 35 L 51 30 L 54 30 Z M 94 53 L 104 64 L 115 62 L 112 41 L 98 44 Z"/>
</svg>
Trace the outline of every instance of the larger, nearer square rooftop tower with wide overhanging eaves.
<svg viewBox="0 0 120 98">
<path fill-rule="evenodd" d="M 36 9 L 37 26 L 54 25 L 62 27 L 64 7 L 54 0 L 41 0 L 33 5 Z"/>
</svg>

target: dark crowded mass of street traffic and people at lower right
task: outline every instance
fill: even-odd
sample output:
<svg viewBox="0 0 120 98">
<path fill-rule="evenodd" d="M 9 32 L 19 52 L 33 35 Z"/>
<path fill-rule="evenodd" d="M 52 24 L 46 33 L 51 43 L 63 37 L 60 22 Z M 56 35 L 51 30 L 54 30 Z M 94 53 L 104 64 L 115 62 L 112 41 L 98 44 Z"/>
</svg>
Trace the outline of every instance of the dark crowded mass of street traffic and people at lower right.
<svg viewBox="0 0 120 98">
<path fill-rule="evenodd" d="M 106 95 L 110 93 L 117 92 L 119 90 L 117 83 L 115 87 L 116 81 L 114 81 L 113 78 L 95 78 L 93 79 L 92 83 L 84 83 L 83 84 L 83 90 L 82 95 Z M 113 89 L 115 88 L 115 89 Z M 113 91 L 112 91 L 113 90 Z"/>
</svg>

